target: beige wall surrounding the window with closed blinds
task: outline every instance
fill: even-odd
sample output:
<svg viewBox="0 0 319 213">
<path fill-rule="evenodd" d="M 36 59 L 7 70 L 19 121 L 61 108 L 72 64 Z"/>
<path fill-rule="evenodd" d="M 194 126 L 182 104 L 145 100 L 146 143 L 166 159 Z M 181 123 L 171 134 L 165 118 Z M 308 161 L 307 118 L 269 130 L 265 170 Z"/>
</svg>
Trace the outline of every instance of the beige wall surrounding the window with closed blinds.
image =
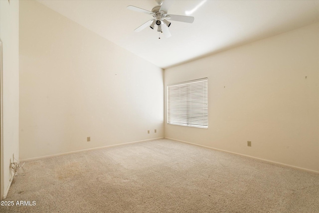
<svg viewBox="0 0 319 213">
<path fill-rule="evenodd" d="M 165 69 L 209 87 L 208 129 L 165 117 L 165 137 L 319 172 L 318 72 L 318 23 Z"/>
</svg>

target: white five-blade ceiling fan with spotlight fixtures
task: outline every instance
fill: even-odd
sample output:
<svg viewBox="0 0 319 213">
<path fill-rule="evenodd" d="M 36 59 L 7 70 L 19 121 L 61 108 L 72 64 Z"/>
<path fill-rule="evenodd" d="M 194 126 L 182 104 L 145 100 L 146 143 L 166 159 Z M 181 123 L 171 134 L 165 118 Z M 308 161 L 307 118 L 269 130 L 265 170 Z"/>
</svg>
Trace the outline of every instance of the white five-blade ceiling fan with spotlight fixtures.
<svg viewBox="0 0 319 213">
<path fill-rule="evenodd" d="M 129 5 L 127 8 L 137 11 L 137 12 L 143 12 L 149 15 L 152 15 L 153 18 L 136 28 L 134 31 L 140 32 L 143 29 L 145 29 L 147 26 L 150 26 L 152 29 L 154 29 L 155 24 L 158 26 L 158 32 L 163 32 L 165 37 L 170 37 L 171 34 L 168 30 L 168 27 L 170 26 L 170 22 L 168 20 L 172 21 L 181 21 L 186 23 L 192 23 L 194 21 L 194 17 L 192 16 L 185 16 L 185 15 L 173 15 L 173 14 L 167 14 L 167 10 L 169 6 L 172 3 L 172 0 L 156 0 L 156 2 L 159 4 L 155 7 L 153 7 L 152 11 L 142 9 L 140 7 Z M 159 37 L 160 38 L 160 37 Z"/>
</svg>

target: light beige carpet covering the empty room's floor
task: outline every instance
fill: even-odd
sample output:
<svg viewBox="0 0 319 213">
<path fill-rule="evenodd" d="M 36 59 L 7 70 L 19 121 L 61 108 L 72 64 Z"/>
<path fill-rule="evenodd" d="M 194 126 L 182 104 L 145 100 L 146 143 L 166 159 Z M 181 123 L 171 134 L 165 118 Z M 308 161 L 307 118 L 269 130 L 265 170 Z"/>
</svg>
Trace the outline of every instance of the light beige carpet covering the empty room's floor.
<svg viewBox="0 0 319 213">
<path fill-rule="evenodd" d="M 167 139 L 24 169 L 1 213 L 319 213 L 319 175 Z"/>
</svg>

